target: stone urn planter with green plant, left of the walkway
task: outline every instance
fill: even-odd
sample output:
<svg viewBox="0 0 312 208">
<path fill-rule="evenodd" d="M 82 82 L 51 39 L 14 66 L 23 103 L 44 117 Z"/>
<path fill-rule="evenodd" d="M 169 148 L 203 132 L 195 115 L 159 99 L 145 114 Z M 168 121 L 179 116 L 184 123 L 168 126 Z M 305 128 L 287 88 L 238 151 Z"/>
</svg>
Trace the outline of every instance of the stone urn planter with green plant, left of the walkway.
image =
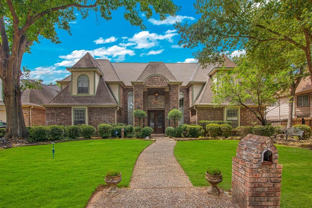
<svg viewBox="0 0 312 208">
<path fill-rule="evenodd" d="M 110 169 L 105 176 L 105 183 L 107 183 L 110 188 L 105 191 L 110 197 L 116 196 L 120 193 L 120 190 L 117 188 L 117 184 L 121 181 L 121 172 L 115 169 Z"/>
</svg>

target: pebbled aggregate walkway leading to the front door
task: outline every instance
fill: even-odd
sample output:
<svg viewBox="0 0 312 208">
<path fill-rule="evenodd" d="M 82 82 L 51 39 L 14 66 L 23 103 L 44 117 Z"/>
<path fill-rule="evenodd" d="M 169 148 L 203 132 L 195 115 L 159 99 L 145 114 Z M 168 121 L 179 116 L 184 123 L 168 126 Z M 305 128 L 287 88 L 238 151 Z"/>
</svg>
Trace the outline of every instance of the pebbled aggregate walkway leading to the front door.
<svg viewBox="0 0 312 208">
<path fill-rule="evenodd" d="M 156 137 L 138 157 L 130 189 L 121 189 L 113 198 L 101 191 L 87 207 L 234 207 L 224 193 L 212 196 L 207 187 L 192 186 L 173 155 L 175 144 L 171 138 Z"/>
</svg>

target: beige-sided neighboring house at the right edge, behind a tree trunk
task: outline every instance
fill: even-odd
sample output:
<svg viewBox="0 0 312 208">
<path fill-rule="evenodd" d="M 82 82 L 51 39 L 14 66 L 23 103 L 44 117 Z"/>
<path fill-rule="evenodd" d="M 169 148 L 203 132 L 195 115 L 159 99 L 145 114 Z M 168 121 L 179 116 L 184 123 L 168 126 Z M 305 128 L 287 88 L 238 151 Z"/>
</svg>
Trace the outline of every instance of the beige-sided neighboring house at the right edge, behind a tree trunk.
<svg viewBox="0 0 312 208">
<path fill-rule="evenodd" d="M 312 117 L 311 114 L 311 92 L 312 85 L 310 77 L 301 80 L 296 92 L 293 106 L 293 118 Z M 275 104 L 267 108 L 266 118 L 272 119 L 287 119 L 289 110 L 289 100 L 286 96 L 277 99 Z"/>
</svg>

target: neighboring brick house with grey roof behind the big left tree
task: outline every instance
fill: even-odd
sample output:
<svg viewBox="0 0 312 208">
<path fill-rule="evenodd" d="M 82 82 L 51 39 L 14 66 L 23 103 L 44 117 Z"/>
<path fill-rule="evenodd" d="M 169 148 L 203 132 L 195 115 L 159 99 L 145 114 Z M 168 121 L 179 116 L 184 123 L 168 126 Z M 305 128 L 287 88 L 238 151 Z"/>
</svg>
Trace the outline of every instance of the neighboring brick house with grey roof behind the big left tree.
<svg viewBox="0 0 312 208">
<path fill-rule="evenodd" d="M 33 80 L 28 80 L 34 82 Z M 0 80 L 1 92 L 2 81 Z M 40 84 L 41 89 L 25 89 L 22 91 L 22 110 L 26 126 L 46 125 L 46 109 L 41 105 L 50 102 L 59 92 L 59 86 Z M 3 94 L 0 100 L 0 120 L 7 121 Z"/>
</svg>

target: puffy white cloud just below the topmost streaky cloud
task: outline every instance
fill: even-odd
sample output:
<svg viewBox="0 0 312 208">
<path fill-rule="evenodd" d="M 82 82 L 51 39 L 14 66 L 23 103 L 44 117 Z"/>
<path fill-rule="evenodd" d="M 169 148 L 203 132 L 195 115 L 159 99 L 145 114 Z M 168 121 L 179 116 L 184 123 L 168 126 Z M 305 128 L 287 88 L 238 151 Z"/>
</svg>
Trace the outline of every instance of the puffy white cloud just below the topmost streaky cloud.
<svg viewBox="0 0 312 208">
<path fill-rule="evenodd" d="M 172 37 L 178 35 L 178 33 L 174 33 L 172 31 L 167 31 L 168 33 L 165 33 L 164 35 L 149 33 L 149 31 L 141 31 L 139 33 L 135 33 L 132 38 L 128 39 L 128 41 L 131 43 L 135 43 L 136 46 L 134 48 L 147 49 L 158 45 L 158 40 L 167 40 L 168 42 L 172 43 Z"/>
</svg>

